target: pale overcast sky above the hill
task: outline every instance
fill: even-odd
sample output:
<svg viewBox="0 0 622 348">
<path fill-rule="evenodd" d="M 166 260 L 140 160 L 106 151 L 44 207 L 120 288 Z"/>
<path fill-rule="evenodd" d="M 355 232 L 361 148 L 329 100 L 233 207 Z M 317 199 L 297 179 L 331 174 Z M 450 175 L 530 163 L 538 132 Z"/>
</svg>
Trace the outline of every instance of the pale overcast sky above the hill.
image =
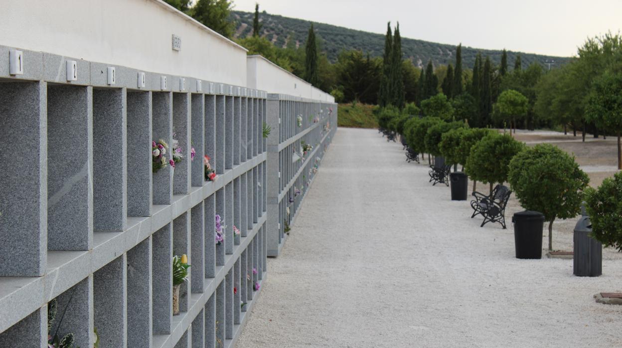
<svg viewBox="0 0 622 348">
<path fill-rule="evenodd" d="M 399 21 L 402 37 L 480 49 L 570 56 L 587 37 L 618 32 L 622 0 L 233 0 L 238 11 L 384 34 Z"/>
</svg>

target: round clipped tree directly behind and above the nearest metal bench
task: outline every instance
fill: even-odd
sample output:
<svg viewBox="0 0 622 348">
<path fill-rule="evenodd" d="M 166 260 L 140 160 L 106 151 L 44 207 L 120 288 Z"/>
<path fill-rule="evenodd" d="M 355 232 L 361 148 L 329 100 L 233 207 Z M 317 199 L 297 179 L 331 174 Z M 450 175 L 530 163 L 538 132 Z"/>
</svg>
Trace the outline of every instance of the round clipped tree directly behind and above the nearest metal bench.
<svg viewBox="0 0 622 348">
<path fill-rule="evenodd" d="M 509 162 L 524 147 L 509 135 L 488 134 L 471 148 L 465 171 L 473 180 L 488 182 L 492 192 L 494 183 L 506 182 Z"/>
</svg>

